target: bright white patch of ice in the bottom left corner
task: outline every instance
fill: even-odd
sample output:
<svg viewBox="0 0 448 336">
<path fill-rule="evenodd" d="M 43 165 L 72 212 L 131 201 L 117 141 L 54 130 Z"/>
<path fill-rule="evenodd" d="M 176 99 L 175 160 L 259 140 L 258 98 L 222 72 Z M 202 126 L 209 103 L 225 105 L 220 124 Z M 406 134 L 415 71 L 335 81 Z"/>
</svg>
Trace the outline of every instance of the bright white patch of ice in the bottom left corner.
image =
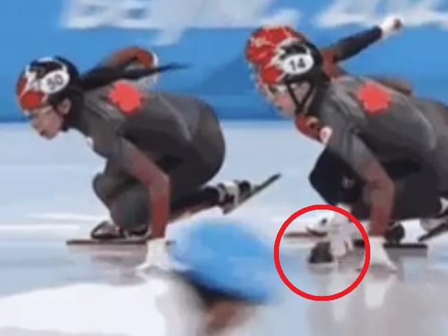
<svg viewBox="0 0 448 336">
<path fill-rule="evenodd" d="M 173 288 L 173 284 L 168 286 L 151 280 L 135 286 L 69 284 L 1 297 L 0 330 L 10 328 L 17 331 L 0 331 L 0 334 L 167 335 L 167 317 L 163 315 L 166 312 L 161 311 L 157 300 L 167 297 L 159 293 Z M 183 302 L 172 301 L 170 308 L 177 305 L 180 306 L 179 311 L 188 309 L 186 304 L 181 305 Z M 136 311 L 123 314 L 121 305 L 132 306 Z M 183 326 L 186 324 L 182 320 L 179 322 Z"/>
</svg>

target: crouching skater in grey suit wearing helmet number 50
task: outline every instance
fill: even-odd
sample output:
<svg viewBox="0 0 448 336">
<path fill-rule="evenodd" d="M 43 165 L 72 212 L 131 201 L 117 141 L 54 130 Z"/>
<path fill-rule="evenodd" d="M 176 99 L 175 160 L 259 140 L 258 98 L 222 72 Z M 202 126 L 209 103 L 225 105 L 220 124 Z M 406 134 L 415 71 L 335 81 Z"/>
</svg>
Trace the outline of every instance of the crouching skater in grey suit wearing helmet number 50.
<svg viewBox="0 0 448 336">
<path fill-rule="evenodd" d="M 75 129 L 105 158 L 104 171 L 93 180 L 94 192 L 119 231 L 135 233 L 143 227 L 151 239 L 148 264 L 159 266 L 166 260 L 170 220 L 197 209 L 227 207 L 240 187 L 250 188 L 247 182 L 206 185 L 225 156 L 210 105 L 134 84 L 172 68 L 123 70 L 114 64 L 81 76 L 66 59 L 52 57 L 28 64 L 17 82 L 19 105 L 41 136 L 52 139 Z M 114 236 L 110 231 L 97 235 Z"/>
</svg>

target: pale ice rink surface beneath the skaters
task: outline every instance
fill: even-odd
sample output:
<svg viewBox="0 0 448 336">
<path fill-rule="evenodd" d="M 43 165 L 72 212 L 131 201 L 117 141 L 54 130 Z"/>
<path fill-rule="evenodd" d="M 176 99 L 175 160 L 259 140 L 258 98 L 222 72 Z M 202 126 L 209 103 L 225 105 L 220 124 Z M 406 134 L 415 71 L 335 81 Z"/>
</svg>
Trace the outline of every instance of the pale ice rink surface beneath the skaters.
<svg viewBox="0 0 448 336">
<path fill-rule="evenodd" d="M 227 161 L 216 180 L 283 178 L 232 217 L 273 244 L 294 211 L 321 200 L 307 173 L 319 146 L 289 123 L 224 123 Z M 106 213 L 90 188 L 103 162 L 79 134 L 53 142 L 26 125 L 0 126 L 0 336 L 192 336 L 197 316 L 179 302 L 182 287 L 158 275 L 135 273 L 144 247 L 73 248 Z M 318 214 L 312 214 L 312 217 Z M 321 214 L 320 214 L 321 215 Z M 201 218 L 218 216 L 216 211 Z M 304 218 L 304 221 L 312 218 Z M 186 224 L 186 223 L 185 223 Z M 183 224 L 170 228 L 170 235 Z M 420 233 L 410 223 L 407 240 Z M 294 222 L 292 230 L 301 224 Z M 351 284 L 363 253 L 332 271 L 310 269 L 309 242 L 282 241 L 285 274 L 315 295 Z M 254 312 L 224 335 L 241 336 L 445 336 L 448 333 L 448 239 L 427 253 L 390 251 L 399 272 L 369 270 L 351 294 L 311 302 L 278 278 L 281 300 Z"/>
</svg>

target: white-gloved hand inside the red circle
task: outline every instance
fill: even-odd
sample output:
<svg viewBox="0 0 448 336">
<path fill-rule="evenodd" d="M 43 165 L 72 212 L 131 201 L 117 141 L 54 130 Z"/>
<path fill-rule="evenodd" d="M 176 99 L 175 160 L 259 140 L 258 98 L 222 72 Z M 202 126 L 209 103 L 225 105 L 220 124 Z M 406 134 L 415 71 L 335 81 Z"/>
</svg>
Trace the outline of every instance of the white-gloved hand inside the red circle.
<svg viewBox="0 0 448 336">
<path fill-rule="evenodd" d="M 340 213 L 336 213 L 332 218 L 328 238 L 330 251 L 334 258 L 342 258 L 352 251 L 354 229 L 356 229 L 354 224 Z"/>
</svg>

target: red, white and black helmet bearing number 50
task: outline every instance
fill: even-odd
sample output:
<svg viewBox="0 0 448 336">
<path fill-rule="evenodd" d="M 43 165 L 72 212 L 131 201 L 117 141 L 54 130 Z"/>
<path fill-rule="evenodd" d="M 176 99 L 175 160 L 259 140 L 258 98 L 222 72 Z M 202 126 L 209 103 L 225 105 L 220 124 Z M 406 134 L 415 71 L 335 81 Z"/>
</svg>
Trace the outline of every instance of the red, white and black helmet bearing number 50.
<svg viewBox="0 0 448 336">
<path fill-rule="evenodd" d="M 23 112 L 54 105 L 79 83 L 79 72 L 59 56 L 45 57 L 26 65 L 16 85 L 16 96 Z"/>
</svg>

